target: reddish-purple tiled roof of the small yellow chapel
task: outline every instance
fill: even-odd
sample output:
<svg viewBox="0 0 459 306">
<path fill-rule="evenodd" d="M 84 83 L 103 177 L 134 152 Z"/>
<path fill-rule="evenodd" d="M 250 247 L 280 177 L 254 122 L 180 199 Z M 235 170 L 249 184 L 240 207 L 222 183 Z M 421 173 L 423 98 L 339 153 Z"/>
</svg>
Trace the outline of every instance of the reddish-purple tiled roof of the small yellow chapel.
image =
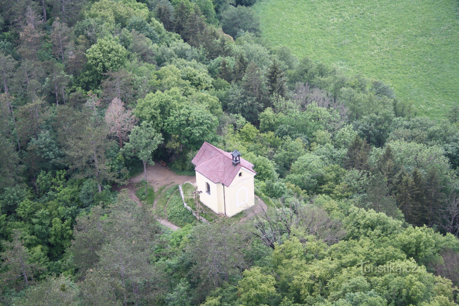
<svg viewBox="0 0 459 306">
<path fill-rule="evenodd" d="M 197 172 L 210 179 L 213 183 L 222 183 L 226 187 L 231 184 L 241 167 L 255 172 L 252 169 L 253 165 L 243 158 L 241 158 L 241 162 L 234 166 L 231 153 L 218 149 L 207 141 L 202 144 L 201 149 L 199 149 L 191 162 L 196 166 L 195 170 Z"/>
</svg>

